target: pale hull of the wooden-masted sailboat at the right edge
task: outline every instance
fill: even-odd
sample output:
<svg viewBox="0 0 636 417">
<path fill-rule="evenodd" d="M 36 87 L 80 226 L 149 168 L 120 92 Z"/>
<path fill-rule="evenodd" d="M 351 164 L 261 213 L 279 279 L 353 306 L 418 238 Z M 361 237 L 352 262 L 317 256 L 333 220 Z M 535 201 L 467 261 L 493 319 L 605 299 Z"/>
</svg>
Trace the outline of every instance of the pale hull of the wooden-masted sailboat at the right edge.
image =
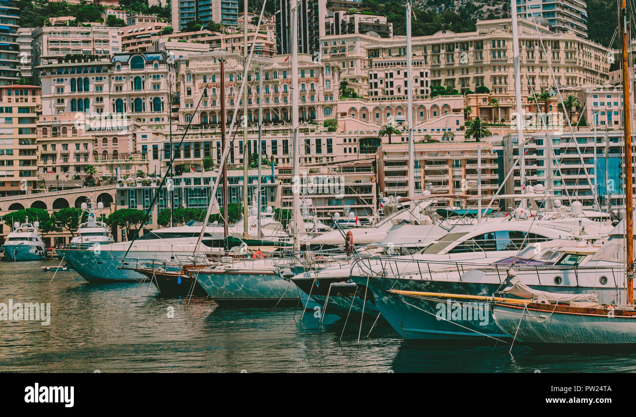
<svg viewBox="0 0 636 417">
<path fill-rule="evenodd" d="M 515 341 L 531 346 L 628 346 L 636 344 L 636 318 L 572 314 L 496 304 L 493 317 Z M 555 309 L 556 310 L 556 309 Z"/>
</svg>

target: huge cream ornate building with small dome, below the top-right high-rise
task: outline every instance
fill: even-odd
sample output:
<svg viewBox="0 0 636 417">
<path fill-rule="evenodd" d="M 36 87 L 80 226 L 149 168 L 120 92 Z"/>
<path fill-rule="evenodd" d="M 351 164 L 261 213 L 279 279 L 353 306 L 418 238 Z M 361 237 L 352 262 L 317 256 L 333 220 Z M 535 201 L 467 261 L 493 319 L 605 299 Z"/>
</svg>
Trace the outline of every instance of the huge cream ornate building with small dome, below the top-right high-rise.
<svg viewBox="0 0 636 417">
<path fill-rule="evenodd" d="M 539 34 L 544 51 L 539 42 Z M 612 51 L 573 32 L 555 34 L 548 27 L 519 20 L 522 95 L 554 89 L 553 67 L 559 86 L 602 85 L 609 79 Z M 325 36 L 322 62 L 342 69 L 341 77 L 368 88 L 369 69 L 376 62 L 406 55 L 406 37 L 378 38 L 368 34 Z M 494 93 L 514 93 L 511 20 L 483 20 L 475 32 L 440 31 L 412 39 L 413 61 L 431 69 L 431 87 L 445 86 L 460 92 L 485 86 Z"/>
</svg>

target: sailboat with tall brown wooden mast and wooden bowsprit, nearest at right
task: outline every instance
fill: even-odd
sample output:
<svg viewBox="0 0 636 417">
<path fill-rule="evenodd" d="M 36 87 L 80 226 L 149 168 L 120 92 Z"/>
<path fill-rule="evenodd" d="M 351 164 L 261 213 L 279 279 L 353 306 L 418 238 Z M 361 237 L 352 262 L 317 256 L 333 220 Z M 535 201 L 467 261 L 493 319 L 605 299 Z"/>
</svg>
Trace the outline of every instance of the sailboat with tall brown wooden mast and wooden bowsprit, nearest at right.
<svg viewBox="0 0 636 417">
<path fill-rule="evenodd" d="M 493 318 L 497 326 L 513 339 L 529 345 L 633 346 L 636 344 L 636 310 L 633 299 L 633 184 L 632 184 L 632 109 L 628 64 L 628 27 L 626 0 L 621 0 L 621 40 L 623 52 L 623 114 L 625 117 L 625 209 L 619 226 L 625 230 L 624 256 L 626 302 L 601 304 L 597 297 L 561 299 L 554 294 L 511 282 L 505 291 L 531 298 L 525 303 L 495 302 Z M 615 249 L 622 252 L 621 242 Z M 617 252 L 614 252 L 616 254 Z M 592 294 L 595 295 L 595 294 Z"/>
</svg>

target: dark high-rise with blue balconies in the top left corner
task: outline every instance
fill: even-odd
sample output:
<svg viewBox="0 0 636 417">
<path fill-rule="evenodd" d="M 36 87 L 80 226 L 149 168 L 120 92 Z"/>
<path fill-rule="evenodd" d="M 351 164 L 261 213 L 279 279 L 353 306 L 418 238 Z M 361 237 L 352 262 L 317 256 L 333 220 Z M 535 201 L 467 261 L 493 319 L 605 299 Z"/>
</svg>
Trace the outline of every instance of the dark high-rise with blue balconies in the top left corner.
<svg viewBox="0 0 636 417">
<path fill-rule="evenodd" d="M 18 79 L 18 15 L 17 1 L 0 3 L 0 85 L 11 85 Z"/>
</svg>

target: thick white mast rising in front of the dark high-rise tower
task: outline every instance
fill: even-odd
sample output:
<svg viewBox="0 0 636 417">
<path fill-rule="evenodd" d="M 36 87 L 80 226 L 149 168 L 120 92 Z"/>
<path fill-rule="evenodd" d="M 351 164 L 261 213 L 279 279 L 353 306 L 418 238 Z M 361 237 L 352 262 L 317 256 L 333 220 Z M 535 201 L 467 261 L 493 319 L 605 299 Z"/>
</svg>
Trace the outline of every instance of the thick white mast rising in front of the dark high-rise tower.
<svg viewBox="0 0 636 417">
<path fill-rule="evenodd" d="M 294 196 L 292 205 L 292 215 L 294 224 L 294 250 L 300 250 L 300 149 L 298 146 L 298 0 L 291 0 L 290 20 L 291 39 L 289 50 L 291 52 L 291 135 L 293 146 L 293 169 L 291 177 L 291 188 Z"/>
</svg>

